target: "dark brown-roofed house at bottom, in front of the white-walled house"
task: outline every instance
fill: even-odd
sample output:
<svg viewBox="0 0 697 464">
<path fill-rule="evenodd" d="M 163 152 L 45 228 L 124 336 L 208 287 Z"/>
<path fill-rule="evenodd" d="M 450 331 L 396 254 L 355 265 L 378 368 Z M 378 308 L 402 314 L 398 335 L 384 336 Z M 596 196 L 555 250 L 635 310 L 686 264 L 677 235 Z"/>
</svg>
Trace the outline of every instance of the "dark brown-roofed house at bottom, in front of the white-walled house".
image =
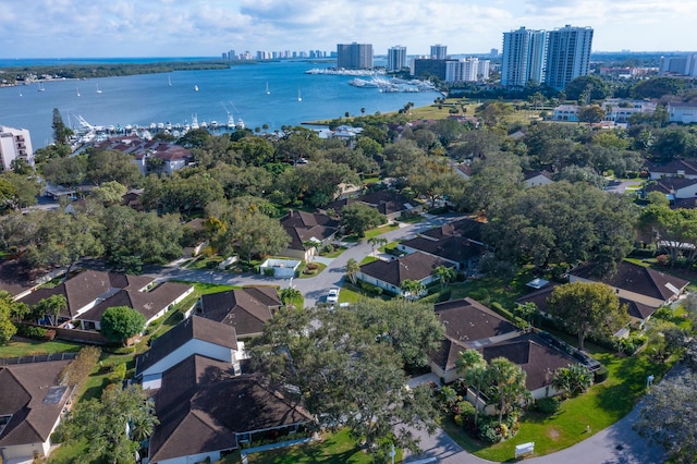
<svg viewBox="0 0 697 464">
<path fill-rule="evenodd" d="M 160 424 L 150 438 L 149 462 L 217 462 L 243 443 L 292 436 L 311 422 L 297 402 L 229 363 L 197 354 L 170 367 L 155 395 Z"/>
</svg>

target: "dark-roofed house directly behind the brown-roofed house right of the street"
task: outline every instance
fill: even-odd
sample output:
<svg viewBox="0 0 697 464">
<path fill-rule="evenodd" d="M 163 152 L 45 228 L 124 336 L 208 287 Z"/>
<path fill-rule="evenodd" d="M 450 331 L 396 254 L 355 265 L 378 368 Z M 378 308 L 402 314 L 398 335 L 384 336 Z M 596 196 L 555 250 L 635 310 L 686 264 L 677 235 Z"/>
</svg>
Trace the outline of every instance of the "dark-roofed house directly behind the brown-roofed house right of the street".
<svg viewBox="0 0 697 464">
<path fill-rule="evenodd" d="M 460 271 L 472 273 L 486 251 L 481 243 L 481 225 L 473 219 L 461 219 L 430 229 L 396 247 L 407 254 L 426 253 L 452 264 Z"/>
</svg>

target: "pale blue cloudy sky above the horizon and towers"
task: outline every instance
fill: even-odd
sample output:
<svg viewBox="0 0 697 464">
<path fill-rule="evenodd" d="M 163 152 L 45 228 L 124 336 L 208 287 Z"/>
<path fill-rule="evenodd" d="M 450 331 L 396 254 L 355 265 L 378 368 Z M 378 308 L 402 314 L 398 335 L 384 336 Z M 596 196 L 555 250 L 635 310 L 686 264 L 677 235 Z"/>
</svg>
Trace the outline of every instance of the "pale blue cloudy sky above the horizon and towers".
<svg viewBox="0 0 697 464">
<path fill-rule="evenodd" d="M 501 48 L 502 33 L 595 29 L 594 51 L 694 51 L 696 0 L 0 0 L 0 58 L 217 57 L 394 45 Z M 690 38 L 692 37 L 692 38 Z"/>
</svg>

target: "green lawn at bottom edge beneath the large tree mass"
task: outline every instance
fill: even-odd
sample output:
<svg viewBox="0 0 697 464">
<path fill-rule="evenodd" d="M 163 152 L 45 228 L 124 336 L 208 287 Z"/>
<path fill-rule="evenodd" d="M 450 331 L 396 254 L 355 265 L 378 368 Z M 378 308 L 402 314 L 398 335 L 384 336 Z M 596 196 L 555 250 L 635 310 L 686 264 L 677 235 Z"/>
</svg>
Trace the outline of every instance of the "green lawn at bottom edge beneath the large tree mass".
<svg viewBox="0 0 697 464">
<path fill-rule="evenodd" d="M 371 463 L 372 457 L 362 450 L 348 436 L 348 430 L 326 436 L 321 441 L 291 448 L 247 454 L 249 464 L 363 464 Z M 402 461 L 401 450 L 395 462 Z"/>
</svg>

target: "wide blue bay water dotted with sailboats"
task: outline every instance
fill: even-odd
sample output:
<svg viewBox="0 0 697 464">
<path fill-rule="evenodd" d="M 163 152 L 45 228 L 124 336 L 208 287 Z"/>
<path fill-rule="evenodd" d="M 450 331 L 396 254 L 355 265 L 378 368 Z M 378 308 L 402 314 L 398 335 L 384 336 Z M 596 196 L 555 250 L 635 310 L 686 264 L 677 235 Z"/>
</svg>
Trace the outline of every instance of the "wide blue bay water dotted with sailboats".
<svg viewBox="0 0 697 464">
<path fill-rule="evenodd" d="M 206 122 L 209 130 L 216 131 L 233 124 L 252 130 L 266 124 L 273 132 L 285 125 L 343 118 L 346 112 L 362 114 L 362 108 L 366 114 L 374 114 L 396 111 L 407 102 L 430 105 L 436 98 L 430 91 L 366 91 L 348 84 L 355 78 L 352 75 L 306 73 L 313 66 L 317 64 L 298 60 L 1 87 L 0 124 L 29 130 L 36 149 L 51 142 L 53 108 L 60 110 L 65 124 L 74 130 L 83 129 L 76 120 L 80 115 L 89 125 L 113 131 L 118 127 L 125 131 L 126 126 L 131 131 L 136 127 L 150 131 L 155 124 L 156 129 L 171 126 L 171 131 L 181 134 L 187 125 L 200 127 Z M 76 95 L 76 85 L 81 87 L 81 97 Z M 98 132 L 95 136 L 99 136 Z"/>
</svg>

